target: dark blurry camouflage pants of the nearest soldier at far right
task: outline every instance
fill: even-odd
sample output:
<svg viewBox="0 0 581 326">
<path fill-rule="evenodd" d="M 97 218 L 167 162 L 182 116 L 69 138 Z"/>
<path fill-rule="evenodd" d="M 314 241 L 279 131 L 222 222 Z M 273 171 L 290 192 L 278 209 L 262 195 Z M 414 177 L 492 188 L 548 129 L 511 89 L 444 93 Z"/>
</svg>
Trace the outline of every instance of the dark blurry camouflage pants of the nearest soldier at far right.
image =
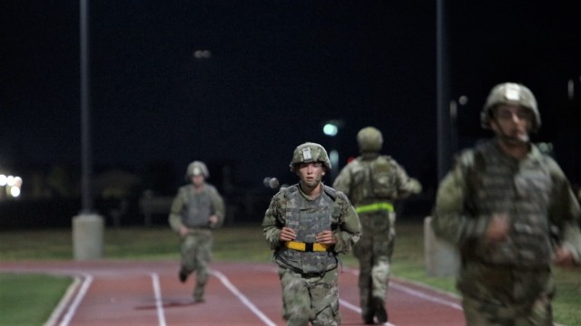
<svg viewBox="0 0 581 326">
<path fill-rule="evenodd" d="M 548 270 L 468 262 L 458 280 L 467 325 L 551 326 L 555 284 Z"/>
</svg>

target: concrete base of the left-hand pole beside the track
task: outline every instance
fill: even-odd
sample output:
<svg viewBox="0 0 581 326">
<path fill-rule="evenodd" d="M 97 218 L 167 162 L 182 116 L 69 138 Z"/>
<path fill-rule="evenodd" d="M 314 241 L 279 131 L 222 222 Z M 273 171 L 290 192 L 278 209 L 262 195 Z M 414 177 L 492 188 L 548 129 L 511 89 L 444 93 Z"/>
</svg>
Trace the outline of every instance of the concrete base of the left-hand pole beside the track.
<svg viewBox="0 0 581 326">
<path fill-rule="evenodd" d="M 73 217 L 74 260 L 103 257 L 103 216 L 81 214 Z"/>
</svg>

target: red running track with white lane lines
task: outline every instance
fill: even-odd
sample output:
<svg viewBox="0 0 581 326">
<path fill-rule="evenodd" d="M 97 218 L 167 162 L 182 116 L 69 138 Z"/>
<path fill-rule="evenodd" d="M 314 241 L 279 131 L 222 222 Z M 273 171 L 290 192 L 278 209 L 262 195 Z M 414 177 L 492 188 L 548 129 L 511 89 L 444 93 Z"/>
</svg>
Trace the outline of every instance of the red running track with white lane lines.
<svg viewBox="0 0 581 326">
<path fill-rule="evenodd" d="M 192 300 L 193 279 L 178 281 L 178 262 L 14 262 L 0 271 L 74 276 L 46 326 L 284 325 L 274 264 L 212 263 L 205 302 Z M 357 270 L 340 273 L 343 325 L 361 325 Z M 388 325 L 464 325 L 458 298 L 392 279 Z"/>
</svg>

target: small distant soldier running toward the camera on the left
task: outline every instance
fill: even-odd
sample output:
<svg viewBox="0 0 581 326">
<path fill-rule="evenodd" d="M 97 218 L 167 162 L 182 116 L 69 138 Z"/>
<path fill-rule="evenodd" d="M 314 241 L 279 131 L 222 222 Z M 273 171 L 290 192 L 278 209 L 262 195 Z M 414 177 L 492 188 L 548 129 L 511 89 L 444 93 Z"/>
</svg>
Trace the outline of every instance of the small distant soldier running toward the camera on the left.
<svg viewBox="0 0 581 326">
<path fill-rule="evenodd" d="M 180 187 L 173 199 L 169 216 L 172 230 L 182 240 L 182 266 L 178 277 L 182 283 L 196 272 L 193 300 L 203 302 L 208 282 L 208 264 L 212 259 L 212 229 L 224 221 L 225 207 L 215 187 L 205 182 L 210 177 L 201 161 L 193 161 L 186 170 L 191 184 Z"/>
</svg>

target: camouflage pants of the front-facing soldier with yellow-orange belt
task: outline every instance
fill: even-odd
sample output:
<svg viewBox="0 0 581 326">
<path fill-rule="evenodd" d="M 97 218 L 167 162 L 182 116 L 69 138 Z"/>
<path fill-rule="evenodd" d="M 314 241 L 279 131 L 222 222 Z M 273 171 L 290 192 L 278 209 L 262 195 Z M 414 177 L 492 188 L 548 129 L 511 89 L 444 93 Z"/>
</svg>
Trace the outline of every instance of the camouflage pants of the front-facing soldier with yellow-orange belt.
<svg viewBox="0 0 581 326">
<path fill-rule="evenodd" d="M 289 326 L 340 325 L 337 269 L 320 274 L 296 273 L 279 268 L 282 318 Z"/>
</svg>

